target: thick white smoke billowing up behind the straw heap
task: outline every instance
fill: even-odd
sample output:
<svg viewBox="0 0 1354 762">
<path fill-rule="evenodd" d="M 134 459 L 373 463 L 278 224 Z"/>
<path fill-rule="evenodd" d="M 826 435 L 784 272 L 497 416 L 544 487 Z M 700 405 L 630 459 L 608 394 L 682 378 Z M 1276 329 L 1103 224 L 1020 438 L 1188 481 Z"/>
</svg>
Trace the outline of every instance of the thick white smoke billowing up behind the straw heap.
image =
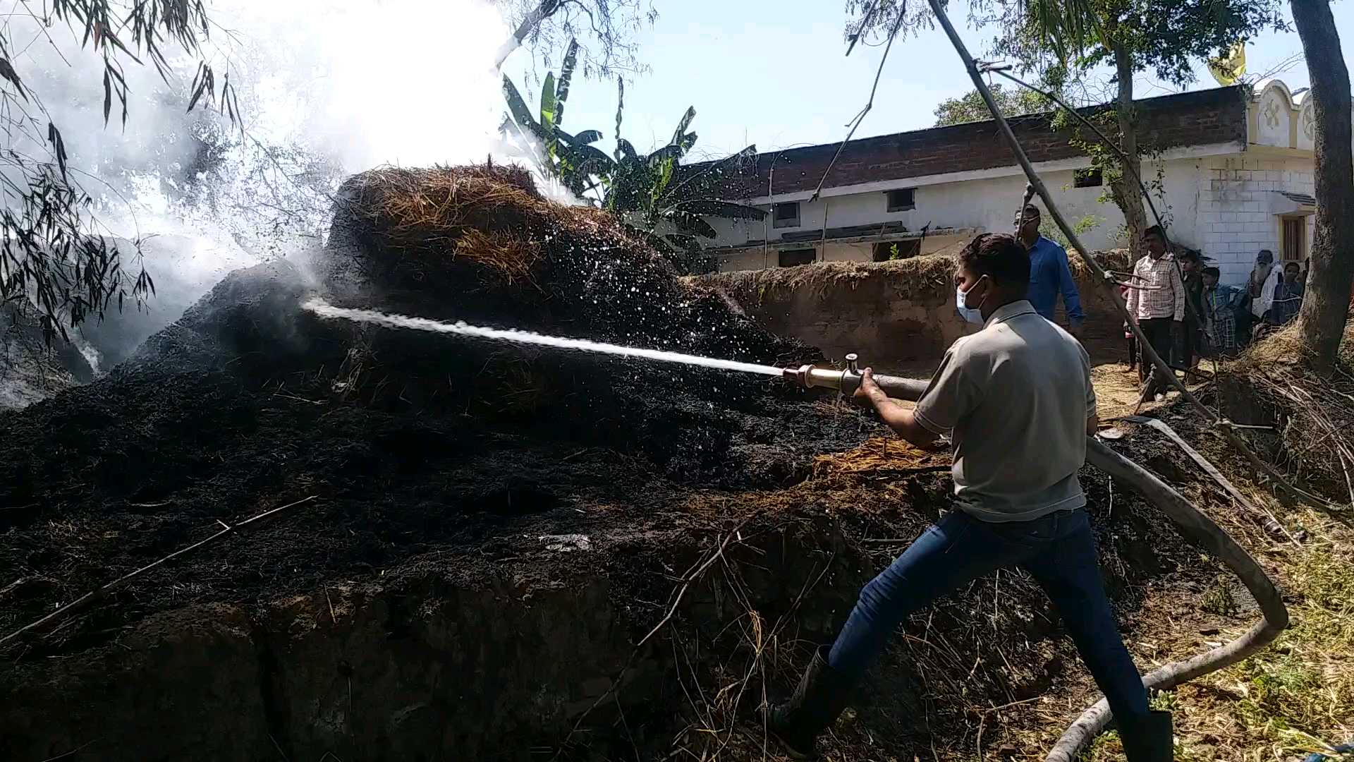
<svg viewBox="0 0 1354 762">
<path fill-rule="evenodd" d="M 230 75 L 242 134 L 215 108 L 187 111 L 198 62 L 177 52 L 168 83 L 154 66 L 125 64 L 126 126 L 116 96 L 106 126 L 103 54 L 80 47 L 83 30 L 41 27 L 26 15 L 31 3 L 5 5 L 15 69 L 61 130 L 73 179 L 95 197 L 97 232 L 149 239 L 154 319 L 135 319 L 135 340 L 230 270 L 321 243 L 344 176 L 497 153 L 493 60 L 509 30 L 479 0 L 209 3 L 204 54 L 218 94 Z M 42 156 L 45 125 L 32 134 L 11 136 L 11 146 Z"/>
</svg>

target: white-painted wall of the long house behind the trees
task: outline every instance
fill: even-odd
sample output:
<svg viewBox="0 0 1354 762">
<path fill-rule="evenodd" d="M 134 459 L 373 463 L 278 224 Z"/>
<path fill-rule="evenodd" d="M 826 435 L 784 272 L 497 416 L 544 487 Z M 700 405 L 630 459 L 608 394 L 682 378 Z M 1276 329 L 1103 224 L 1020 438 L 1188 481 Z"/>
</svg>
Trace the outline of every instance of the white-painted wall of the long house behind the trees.
<svg viewBox="0 0 1354 762">
<path fill-rule="evenodd" d="M 1285 220 L 1301 221 L 1300 226 L 1288 229 L 1297 230 L 1303 239 L 1300 255 L 1305 256 L 1311 251 L 1311 214 L 1315 209 L 1301 198 L 1284 195 L 1313 195 L 1312 104 L 1305 95 L 1293 96 L 1278 80 L 1259 83 L 1248 107 L 1246 145 L 1182 146 L 1169 151 L 1160 161 L 1144 165 L 1148 180 L 1155 180 L 1160 171 L 1163 193 L 1154 201 L 1158 212 L 1166 217 L 1171 239 L 1202 249 L 1221 270 L 1223 282 L 1244 283 L 1255 255 L 1262 248 L 1282 258 Z M 1087 161 L 1048 161 L 1036 164 L 1036 171 L 1070 222 L 1076 224 L 1086 217 L 1095 221 L 1093 228 L 1079 236 L 1086 247 L 1122 247 L 1127 243 L 1118 237 L 1124 226 L 1122 214 L 1113 202 L 1098 201 L 1106 188 L 1075 187 L 1074 172 Z M 915 188 L 914 209 L 888 212 L 887 191 L 898 188 Z M 961 237 L 972 235 L 971 230 L 1010 230 L 1024 188 L 1025 176 L 1018 167 L 1011 165 L 829 187 L 815 201 L 808 201 L 808 191 L 749 201 L 768 212 L 772 210 L 772 201 L 798 202 L 799 225 L 792 228 L 776 228 L 772 214 L 768 214 L 765 222 L 709 222 L 719 233 L 714 241 L 716 247 L 738 247 L 753 240 L 766 240 L 774 245 L 784 233 L 825 228 L 900 222 L 917 232 L 930 224 L 932 233 L 922 249 L 922 254 L 930 254 L 946 249 Z M 945 236 L 944 228 L 964 229 L 964 236 Z M 800 245 L 816 248 L 818 262 L 869 262 L 871 244 L 857 241 L 804 241 Z M 776 249 L 760 245 L 743 251 L 726 248 L 719 259 L 720 270 L 777 266 Z"/>
</svg>

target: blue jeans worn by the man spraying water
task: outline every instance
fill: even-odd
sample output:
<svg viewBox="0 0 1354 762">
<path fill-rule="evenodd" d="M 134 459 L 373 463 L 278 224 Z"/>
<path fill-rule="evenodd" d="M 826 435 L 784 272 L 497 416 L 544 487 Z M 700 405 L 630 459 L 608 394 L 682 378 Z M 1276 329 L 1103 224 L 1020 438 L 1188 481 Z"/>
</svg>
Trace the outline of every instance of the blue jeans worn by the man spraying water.
<svg viewBox="0 0 1354 762">
<path fill-rule="evenodd" d="M 1114 716 L 1147 715 L 1147 690 L 1114 624 L 1083 510 L 1013 523 L 951 511 L 860 591 L 827 664 L 854 683 L 909 614 L 1007 567 L 1028 571 L 1053 601 Z"/>
</svg>

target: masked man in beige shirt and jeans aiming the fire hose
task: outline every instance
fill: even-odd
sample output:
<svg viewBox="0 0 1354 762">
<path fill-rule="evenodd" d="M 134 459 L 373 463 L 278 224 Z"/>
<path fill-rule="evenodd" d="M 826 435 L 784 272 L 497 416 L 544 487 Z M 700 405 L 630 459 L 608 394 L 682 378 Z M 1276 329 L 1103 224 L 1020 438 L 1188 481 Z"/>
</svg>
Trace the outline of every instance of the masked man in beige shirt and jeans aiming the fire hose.
<svg viewBox="0 0 1354 762">
<path fill-rule="evenodd" d="M 1007 235 L 959 255 L 956 308 L 983 328 L 955 342 L 907 409 L 865 369 L 856 397 L 922 449 L 955 446 L 955 508 L 867 584 L 831 647 L 815 651 L 768 728 L 796 758 L 845 709 L 861 675 L 909 614 L 1001 568 L 1020 567 L 1048 594 L 1109 700 L 1129 762 L 1173 758 L 1171 719 L 1147 690 L 1118 635 L 1101 580 L 1076 472 L 1095 433 L 1095 390 L 1080 343 L 1026 300 L 1030 260 Z"/>
</svg>

